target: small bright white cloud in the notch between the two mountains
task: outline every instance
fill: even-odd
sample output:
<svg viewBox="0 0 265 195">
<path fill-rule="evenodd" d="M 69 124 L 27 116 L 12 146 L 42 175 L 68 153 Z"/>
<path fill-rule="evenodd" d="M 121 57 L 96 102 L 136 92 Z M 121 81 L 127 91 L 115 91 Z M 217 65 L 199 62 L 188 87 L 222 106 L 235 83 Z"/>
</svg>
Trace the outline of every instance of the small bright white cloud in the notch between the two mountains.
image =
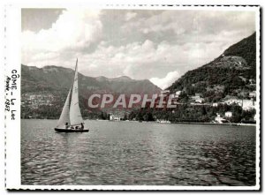
<svg viewBox="0 0 265 195">
<path fill-rule="evenodd" d="M 162 89 L 170 86 L 180 77 L 178 71 L 170 71 L 164 78 L 151 78 L 150 81 Z"/>
</svg>

